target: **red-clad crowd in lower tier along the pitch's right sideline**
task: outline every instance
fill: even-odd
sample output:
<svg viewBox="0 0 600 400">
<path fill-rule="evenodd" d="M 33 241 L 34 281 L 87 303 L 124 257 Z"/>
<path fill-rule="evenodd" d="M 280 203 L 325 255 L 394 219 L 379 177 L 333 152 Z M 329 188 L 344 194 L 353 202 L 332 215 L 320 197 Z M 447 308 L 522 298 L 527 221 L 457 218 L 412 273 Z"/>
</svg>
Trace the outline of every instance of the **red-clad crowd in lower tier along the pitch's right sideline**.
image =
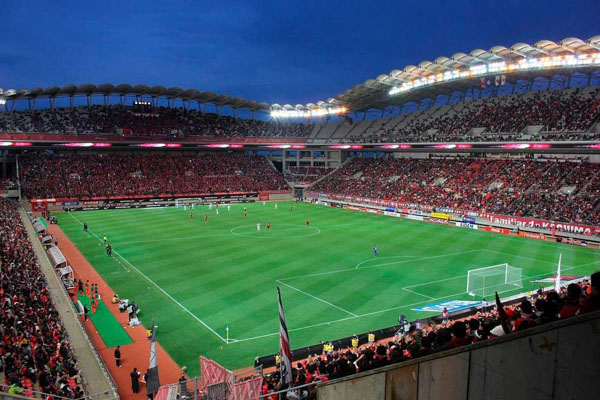
<svg viewBox="0 0 600 400">
<path fill-rule="evenodd" d="M 598 225 L 599 174 L 582 160 L 355 158 L 311 191 Z"/>
</svg>

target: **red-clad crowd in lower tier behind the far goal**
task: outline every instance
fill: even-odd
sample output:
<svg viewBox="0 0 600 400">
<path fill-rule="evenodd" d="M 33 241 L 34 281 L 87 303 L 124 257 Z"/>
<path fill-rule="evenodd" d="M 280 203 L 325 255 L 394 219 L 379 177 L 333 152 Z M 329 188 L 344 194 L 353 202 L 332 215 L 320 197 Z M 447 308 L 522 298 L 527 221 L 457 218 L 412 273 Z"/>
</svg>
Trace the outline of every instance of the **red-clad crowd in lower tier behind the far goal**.
<svg viewBox="0 0 600 400">
<path fill-rule="evenodd" d="M 283 176 L 265 157 L 243 152 L 29 152 L 20 158 L 22 193 L 29 198 L 91 198 L 284 190 Z"/>
</svg>

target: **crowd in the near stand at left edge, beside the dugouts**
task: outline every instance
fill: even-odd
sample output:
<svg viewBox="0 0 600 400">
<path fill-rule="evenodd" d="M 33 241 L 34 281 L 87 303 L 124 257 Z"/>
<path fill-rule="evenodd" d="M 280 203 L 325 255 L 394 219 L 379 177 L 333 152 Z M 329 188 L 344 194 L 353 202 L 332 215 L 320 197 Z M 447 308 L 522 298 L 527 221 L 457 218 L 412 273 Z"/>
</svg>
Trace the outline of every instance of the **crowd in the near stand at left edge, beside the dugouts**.
<svg viewBox="0 0 600 400">
<path fill-rule="evenodd" d="M 0 367 L 12 393 L 83 396 L 68 335 L 16 204 L 0 198 Z"/>
</svg>

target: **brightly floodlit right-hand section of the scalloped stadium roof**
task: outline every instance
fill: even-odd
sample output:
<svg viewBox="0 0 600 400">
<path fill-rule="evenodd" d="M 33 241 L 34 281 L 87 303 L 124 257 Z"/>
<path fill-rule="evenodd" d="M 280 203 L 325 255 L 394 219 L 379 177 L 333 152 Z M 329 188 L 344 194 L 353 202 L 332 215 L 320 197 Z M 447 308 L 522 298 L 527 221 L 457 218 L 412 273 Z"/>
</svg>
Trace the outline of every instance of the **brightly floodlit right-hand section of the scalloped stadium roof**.
<svg viewBox="0 0 600 400">
<path fill-rule="evenodd" d="M 587 61 L 578 62 L 580 58 Z M 529 62 L 531 65 L 528 65 Z M 525 67 L 521 67 L 523 64 Z M 383 109 L 437 94 L 479 88 L 480 79 L 484 76 L 506 74 L 507 78 L 524 79 L 552 76 L 557 70 L 569 72 L 586 68 L 600 68 L 600 35 L 587 41 L 574 37 L 558 43 L 540 40 L 533 45 L 515 43 L 510 47 L 494 46 L 489 50 L 475 49 L 450 57 L 440 56 L 434 61 L 421 61 L 417 65 L 394 69 L 375 79 L 367 79 L 335 98 L 316 102 L 316 105 L 344 106 L 354 111 Z M 445 79 L 445 74 L 451 75 L 449 79 Z M 402 87 L 405 89 L 400 89 Z M 393 89 L 398 94 L 391 94 Z M 312 103 L 296 106 L 274 104 L 273 109 L 302 112 L 314 106 Z"/>
</svg>

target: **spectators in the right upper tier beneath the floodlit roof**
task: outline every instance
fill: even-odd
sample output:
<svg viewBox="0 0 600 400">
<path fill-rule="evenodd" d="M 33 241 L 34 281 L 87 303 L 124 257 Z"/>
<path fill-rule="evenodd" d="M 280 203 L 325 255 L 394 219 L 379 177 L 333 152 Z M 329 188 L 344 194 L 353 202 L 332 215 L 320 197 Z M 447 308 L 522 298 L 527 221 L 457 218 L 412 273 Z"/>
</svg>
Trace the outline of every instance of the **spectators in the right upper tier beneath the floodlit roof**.
<svg viewBox="0 0 600 400">
<path fill-rule="evenodd" d="M 352 141 L 452 142 L 513 140 L 590 140 L 586 133 L 600 118 L 600 88 L 593 91 L 552 90 L 528 95 L 492 97 L 458 103 L 445 112 L 430 110 L 391 119 L 374 132 Z M 527 126 L 542 126 L 541 132 L 522 132 Z M 481 128 L 480 132 L 471 132 Z"/>
</svg>

